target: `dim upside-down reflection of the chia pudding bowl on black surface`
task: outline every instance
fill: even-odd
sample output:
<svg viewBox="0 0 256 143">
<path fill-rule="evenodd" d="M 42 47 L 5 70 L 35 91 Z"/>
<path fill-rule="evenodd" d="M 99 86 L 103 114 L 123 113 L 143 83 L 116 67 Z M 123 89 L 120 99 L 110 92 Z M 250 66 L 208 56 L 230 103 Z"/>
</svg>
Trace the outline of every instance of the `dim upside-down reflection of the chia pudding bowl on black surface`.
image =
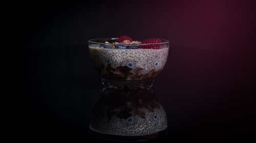
<svg viewBox="0 0 256 143">
<path fill-rule="evenodd" d="M 101 134 L 155 137 L 167 130 L 167 118 L 153 89 L 107 89 L 95 104 L 90 129 Z"/>
</svg>

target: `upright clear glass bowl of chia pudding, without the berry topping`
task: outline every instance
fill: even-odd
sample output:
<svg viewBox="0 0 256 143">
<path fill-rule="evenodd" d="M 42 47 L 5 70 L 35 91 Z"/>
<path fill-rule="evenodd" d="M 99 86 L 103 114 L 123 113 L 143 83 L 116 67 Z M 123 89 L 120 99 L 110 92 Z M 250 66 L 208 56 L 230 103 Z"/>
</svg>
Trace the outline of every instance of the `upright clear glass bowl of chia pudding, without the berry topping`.
<svg viewBox="0 0 256 143">
<path fill-rule="evenodd" d="M 152 80 L 163 69 L 168 56 L 169 41 L 154 43 L 160 49 L 119 49 L 102 48 L 102 45 L 113 44 L 117 38 L 89 40 L 89 51 L 93 66 L 100 73 L 102 79 L 115 81 Z M 109 43 L 104 43 L 108 41 Z M 134 44 L 125 44 L 131 46 Z M 151 44 L 136 44 L 152 45 Z"/>
</svg>

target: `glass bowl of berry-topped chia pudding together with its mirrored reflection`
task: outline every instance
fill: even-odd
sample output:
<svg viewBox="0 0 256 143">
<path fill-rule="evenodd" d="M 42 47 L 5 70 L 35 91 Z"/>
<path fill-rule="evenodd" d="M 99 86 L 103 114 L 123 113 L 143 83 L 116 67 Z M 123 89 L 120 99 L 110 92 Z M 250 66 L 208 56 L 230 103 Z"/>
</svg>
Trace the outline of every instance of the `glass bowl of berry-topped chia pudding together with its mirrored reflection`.
<svg viewBox="0 0 256 143">
<path fill-rule="evenodd" d="M 163 106 L 153 82 L 168 57 L 169 41 L 127 36 L 89 40 L 91 62 L 103 90 L 95 105 L 90 132 L 113 140 L 144 140 L 167 132 Z"/>
</svg>

